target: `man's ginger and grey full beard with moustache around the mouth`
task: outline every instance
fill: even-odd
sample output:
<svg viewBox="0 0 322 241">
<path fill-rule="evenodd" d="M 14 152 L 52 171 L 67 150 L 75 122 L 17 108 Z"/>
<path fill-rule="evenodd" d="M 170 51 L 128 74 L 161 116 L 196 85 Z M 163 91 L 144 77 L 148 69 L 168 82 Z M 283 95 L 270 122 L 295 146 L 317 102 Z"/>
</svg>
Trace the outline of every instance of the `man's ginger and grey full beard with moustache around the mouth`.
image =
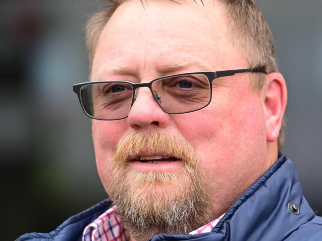
<svg viewBox="0 0 322 241">
<path fill-rule="evenodd" d="M 128 161 L 149 153 L 175 157 L 182 168 L 141 171 Z M 132 132 L 116 146 L 109 197 L 132 238 L 189 233 L 214 219 L 200 161 L 189 143 L 162 131 Z"/>
</svg>

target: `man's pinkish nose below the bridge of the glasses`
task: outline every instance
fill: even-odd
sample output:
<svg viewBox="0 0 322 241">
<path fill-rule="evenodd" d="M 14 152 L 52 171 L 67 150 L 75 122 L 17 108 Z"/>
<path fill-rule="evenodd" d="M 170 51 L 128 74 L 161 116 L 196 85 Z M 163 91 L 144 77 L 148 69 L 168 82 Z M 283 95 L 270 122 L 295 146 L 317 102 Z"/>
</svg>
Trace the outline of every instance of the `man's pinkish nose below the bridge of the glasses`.
<svg viewBox="0 0 322 241">
<path fill-rule="evenodd" d="M 127 117 L 128 124 L 135 130 L 165 128 L 169 123 L 169 115 L 162 111 L 153 98 L 148 87 L 140 87 L 134 104 Z"/>
</svg>

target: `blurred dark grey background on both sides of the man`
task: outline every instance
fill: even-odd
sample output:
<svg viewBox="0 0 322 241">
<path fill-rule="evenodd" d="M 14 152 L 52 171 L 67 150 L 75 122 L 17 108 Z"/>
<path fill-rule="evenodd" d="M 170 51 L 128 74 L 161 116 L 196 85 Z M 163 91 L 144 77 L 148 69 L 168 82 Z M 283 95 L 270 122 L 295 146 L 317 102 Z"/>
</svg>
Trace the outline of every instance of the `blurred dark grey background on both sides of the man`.
<svg viewBox="0 0 322 241">
<path fill-rule="evenodd" d="M 284 152 L 322 215 L 322 1 L 257 2 L 288 84 Z M 91 121 L 71 87 L 87 80 L 85 22 L 103 4 L 0 2 L 1 240 L 52 231 L 107 197 L 96 172 Z"/>
</svg>

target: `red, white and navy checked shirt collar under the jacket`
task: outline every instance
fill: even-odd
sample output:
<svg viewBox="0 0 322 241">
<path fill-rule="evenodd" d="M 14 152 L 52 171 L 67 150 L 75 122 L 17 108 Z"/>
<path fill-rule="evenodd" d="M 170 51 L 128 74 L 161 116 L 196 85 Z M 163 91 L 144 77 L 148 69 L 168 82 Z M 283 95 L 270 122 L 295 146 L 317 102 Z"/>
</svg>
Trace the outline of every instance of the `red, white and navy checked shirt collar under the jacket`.
<svg viewBox="0 0 322 241">
<path fill-rule="evenodd" d="M 212 231 L 223 215 L 189 234 L 201 234 Z M 127 231 L 123 228 L 119 217 L 115 214 L 115 206 L 109 208 L 84 229 L 83 241 L 129 241 Z"/>
</svg>

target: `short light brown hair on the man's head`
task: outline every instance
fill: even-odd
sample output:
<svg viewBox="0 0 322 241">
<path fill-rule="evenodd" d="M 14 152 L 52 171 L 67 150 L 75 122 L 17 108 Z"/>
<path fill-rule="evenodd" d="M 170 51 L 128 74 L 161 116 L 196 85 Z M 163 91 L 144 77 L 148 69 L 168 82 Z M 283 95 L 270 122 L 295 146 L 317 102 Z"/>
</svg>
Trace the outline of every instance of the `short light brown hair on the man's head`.
<svg viewBox="0 0 322 241">
<path fill-rule="evenodd" d="M 86 27 L 90 69 L 101 33 L 107 21 L 125 0 L 107 0 L 107 7 L 94 14 Z M 174 0 L 170 0 L 174 1 Z M 195 0 L 194 0 L 195 1 Z M 203 4 L 203 0 L 200 0 Z M 274 57 L 273 37 L 261 10 L 254 0 L 219 0 L 226 4 L 230 18 L 230 29 L 234 47 L 245 54 L 250 67 L 265 67 L 266 73 L 278 72 Z M 143 4 L 143 0 L 141 0 Z M 266 82 L 266 75 L 254 73 L 251 78 L 253 89 L 260 90 Z M 277 144 L 280 152 L 284 141 L 284 120 Z"/>
</svg>

